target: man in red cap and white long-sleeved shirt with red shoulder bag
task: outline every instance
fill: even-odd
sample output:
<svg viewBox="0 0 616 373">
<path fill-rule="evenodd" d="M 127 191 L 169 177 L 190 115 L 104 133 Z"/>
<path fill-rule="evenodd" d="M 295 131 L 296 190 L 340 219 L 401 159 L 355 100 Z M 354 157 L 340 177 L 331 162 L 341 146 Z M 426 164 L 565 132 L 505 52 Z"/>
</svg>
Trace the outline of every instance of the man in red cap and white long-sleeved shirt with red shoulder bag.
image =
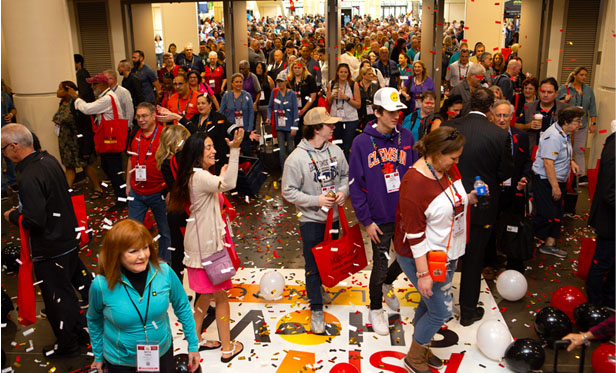
<svg viewBox="0 0 616 373">
<path fill-rule="evenodd" d="M 76 98 L 75 109 L 86 115 L 95 115 L 95 122 L 101 123 L 101 116 L 105 120 L 113 120 L 113 107 L 111 99 L 115 101 L 120 118 L 126 118 L 120 105 L 120 100 L 115 92 L 109 88 L 109 78 L 105 74 L 97 74 L 92 78 L 86 79 L 92 85 L 96 101 L 87 103 L 83 99 L 78 98 L 77 92 L 69 88 L 71 97 Z M 124 178 L 122 177 L 122 153 L 101 153 L 101 168 L 111 180 L 113 192 L 116 198 L 116 204 L 112 206 L 110 211 L 121 211 L 126 208 L 126 193 L 122 192 Z"/>
</svg>

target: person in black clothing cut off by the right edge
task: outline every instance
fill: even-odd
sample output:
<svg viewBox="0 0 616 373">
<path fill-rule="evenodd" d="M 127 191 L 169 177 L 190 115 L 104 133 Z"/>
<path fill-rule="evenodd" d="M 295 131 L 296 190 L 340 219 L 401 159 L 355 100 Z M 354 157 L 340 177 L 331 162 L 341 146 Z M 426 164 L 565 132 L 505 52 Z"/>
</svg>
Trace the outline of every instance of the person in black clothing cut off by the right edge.
<svg viewBox="0 0 616 373">
<path fill-rule="evenodd" d="M 595 189 L 588 225 L 595 228 L 597 246 L 586 279 L 588 301 L 614 307 L 614 133 L 608 136 L 601 152 L 597 189 Z"/>
</svg>

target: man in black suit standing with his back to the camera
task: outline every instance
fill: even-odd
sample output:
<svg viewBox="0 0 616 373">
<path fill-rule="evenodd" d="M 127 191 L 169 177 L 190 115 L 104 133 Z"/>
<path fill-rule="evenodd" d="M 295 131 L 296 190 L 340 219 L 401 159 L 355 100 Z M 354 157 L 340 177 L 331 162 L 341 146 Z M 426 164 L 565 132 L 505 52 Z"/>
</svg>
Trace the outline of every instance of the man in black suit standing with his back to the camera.
<svg viewBox="0 0 616 373">
<path fill-rule="evenodd" d="M 462 326 L 481 320 L 484 314 L 484 309 L 477 307 L 484 253 L 498 213 L 500 184 L 511 177 L 513 168 L 509 134 L 496 127 L 486 116 L 492 110 L 493 103 L 494 93 L 487 88 L 478 88 L 471 93 L 470 113 L 444 124 L 457 128 L 466 139 L 458 164 L 464 188 L 468 192 L 472 191 L 475 176 L 480 176 L 490 191 L 486 208 L 480 210 L 477 206 L 471 207 L 469 239 L 466 253 L 461 258 Z"/>
</svg>

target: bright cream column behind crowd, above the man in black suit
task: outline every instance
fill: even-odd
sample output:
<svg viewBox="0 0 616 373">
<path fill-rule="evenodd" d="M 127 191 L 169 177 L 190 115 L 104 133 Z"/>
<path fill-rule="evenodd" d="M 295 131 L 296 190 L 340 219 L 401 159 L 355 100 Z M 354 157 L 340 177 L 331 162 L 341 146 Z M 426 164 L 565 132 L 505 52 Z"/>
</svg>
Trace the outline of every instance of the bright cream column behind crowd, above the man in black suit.
<svg viewBox="0 0 616 373">
<path fill-rule="evenodd" d="M 504 1 L 467 1 L 464 26 L 468 29 L 464 31 L 464 39 L 468 41 L 468 48 L 473 50 L 475 43 L 482 42 L 487 52 L 492 53 L 494 48 L 500 49 L 504 44 L 504 14 Z"/>
</svg>

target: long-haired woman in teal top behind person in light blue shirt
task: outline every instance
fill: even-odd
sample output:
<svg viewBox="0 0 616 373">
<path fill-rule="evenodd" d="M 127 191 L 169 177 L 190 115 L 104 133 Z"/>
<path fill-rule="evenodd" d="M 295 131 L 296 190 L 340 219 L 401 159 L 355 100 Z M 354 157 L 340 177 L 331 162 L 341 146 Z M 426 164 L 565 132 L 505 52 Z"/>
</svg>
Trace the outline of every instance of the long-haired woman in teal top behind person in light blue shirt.
<svg viewBox="0 0 616 373">
<path fill-rule="evenodd" d="M 588 70 L 583 66 L 576 67 L 569 77 L 567 84 L 558 89 L 557 100 L 572 106 L 577 106 L 584 110 L 582 125 L 573 134 L 573 155 L 574 160 L 580 166 L 580 181 L 586 179 L 586 160 L 584 149 L 586 148 L 586 137 L 588 132 L 595 133 L 597 129 L 597 104 L 595 103 L 595 93 L 586 83 Z M 588 119 L 590 118 L 590 124 Z"/>
</svg>

